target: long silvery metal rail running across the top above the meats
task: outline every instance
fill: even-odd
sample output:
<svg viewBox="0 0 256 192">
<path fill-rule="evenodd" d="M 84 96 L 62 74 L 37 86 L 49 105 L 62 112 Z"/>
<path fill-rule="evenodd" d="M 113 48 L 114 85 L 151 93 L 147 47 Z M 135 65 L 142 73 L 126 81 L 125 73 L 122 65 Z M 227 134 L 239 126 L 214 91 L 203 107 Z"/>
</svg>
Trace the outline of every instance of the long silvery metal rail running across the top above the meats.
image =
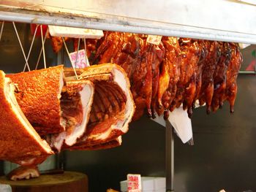
<svg viewBox="0 0 256 192">
<path fill-rule="evenodd" d="M 107 15 L 108 16 L 108 15 Z M 105 31 L 123 31 L 138 34 L 157 34 L 173 37 L 190 37 L 195 39 L 208 39 L 226 42 L 243 42 L 256 44 L 255 34 L 246 34 L 233 31 L 222 31 L 213 28 L 186 26 L 176 23 L 154 22 L 151 20 L 139 20 L 135 18 L 113 18 L 94 15 L 79 17 L 78 15 L 57 14 L 48 12 L 35 12 L 23 9 L 0 11 L 0 20 L 15 20 L 22 23 L 39 23 L 54 26 L 70 26 L 78 28 L 93 28 Z M 141 22 L 143 21 L 143 22 Z"/>
</svg>

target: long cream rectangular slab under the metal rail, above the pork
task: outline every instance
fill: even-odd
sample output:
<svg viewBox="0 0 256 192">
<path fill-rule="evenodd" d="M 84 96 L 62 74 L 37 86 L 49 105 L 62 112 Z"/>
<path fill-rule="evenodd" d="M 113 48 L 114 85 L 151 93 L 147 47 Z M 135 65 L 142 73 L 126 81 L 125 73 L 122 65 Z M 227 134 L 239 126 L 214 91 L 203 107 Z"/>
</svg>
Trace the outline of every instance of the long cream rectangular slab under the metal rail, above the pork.
<svg viewBox="0 0 256 192">
<path fill-rule="evenodd" d="M 49 32 L 53 37 L 100 39 L 104 36 L 102 30 L 64 26 L 49 26 Z"/>
</svg>

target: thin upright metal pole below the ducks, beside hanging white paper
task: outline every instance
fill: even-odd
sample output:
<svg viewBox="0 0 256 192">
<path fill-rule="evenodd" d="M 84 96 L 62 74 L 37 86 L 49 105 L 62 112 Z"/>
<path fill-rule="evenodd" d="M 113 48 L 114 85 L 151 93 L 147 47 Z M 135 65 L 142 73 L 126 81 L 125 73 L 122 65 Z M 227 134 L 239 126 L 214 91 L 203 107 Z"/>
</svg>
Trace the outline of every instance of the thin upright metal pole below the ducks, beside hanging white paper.
<svg viewBox="0 0 256 192">
<path fill-rule="evenodd" d="M 173 126 L 168 120 L 165 121 L 165 172 L 166 192 L 174 192 L 174 138 Z"/>
</svg>

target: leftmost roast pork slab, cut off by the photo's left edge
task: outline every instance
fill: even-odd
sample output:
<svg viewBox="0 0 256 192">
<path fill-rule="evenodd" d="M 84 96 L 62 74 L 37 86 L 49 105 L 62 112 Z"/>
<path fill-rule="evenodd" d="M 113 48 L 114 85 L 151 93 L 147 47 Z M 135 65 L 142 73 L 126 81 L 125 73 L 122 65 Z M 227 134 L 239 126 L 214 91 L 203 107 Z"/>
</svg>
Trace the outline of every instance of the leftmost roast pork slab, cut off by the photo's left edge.
<svg viewBox="0 0 256 192">
<path fill-rule="evenodd" d="M 15 85 L 4 76 L 0 71 L 0 159 L 21 165 L 34 164 L 36 158 L 45 159 L 53 151 L 20 110 Z"/>
</svg>

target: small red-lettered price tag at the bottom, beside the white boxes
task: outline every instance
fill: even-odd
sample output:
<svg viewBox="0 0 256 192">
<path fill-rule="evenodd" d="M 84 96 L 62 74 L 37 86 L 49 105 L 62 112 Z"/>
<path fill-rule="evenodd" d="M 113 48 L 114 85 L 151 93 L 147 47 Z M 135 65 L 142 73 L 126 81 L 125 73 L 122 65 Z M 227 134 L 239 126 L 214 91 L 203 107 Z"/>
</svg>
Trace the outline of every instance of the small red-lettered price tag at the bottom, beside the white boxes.
<svg viewBox="0 0 256 192">
<path fill-rule="evenodd" d="M 141 192 L 140 174 L 127 174 L 127 190 L 128 192 Z"/>
</svg>

